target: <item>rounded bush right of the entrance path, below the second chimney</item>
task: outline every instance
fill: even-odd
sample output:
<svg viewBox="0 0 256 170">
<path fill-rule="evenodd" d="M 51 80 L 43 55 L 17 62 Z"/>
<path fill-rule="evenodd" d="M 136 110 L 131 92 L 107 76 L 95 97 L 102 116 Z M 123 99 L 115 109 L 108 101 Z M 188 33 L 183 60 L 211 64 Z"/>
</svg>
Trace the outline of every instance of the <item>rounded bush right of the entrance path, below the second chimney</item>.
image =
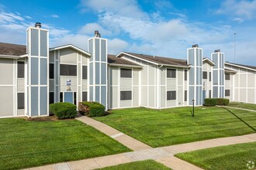
<svg viewBox="0 0 256 170">
<path fill-rule="evenodd" d="M 105 114 L 105 107 L 102 104 L 94 101 L 83 101 L 78 104 L 78 111 L 80 114 L 89 117 L 100 117 Z"/>
</svg>

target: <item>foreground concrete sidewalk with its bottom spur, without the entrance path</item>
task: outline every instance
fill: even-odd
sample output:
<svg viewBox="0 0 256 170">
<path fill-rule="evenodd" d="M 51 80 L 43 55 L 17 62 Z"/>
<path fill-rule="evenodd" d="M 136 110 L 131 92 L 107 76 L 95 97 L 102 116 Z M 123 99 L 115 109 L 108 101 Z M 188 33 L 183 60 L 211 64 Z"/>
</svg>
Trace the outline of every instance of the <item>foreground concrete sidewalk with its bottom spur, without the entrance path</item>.
<svg viewBox="0 0 256 170">
<path fill-rule="evenodd" d="M 42 167 L 29 168 L 29 170 L 82 170 L 104 168 L 112 165 L 120 165 L 129 162 L 144 161 L 153 159 L 157 162 L 164 164 L 172 169 L 202 169 L 195 165 L 185 162 L 179 158 L 174 157 L 175 154 L 195 151 L 203 148 L 213 148 L 224 145 L 234 145 L 240 143 L 247 143 L 256 141 L 256 134 L 247 134 L 237 137 L 216 138 L 206 141 L 196 141 L 188 144 L 172 145 L 161 148 L 150 148 L 140 151 L 131 151 L 118 155 L 108 155 L 99 158 L 90 158 L 74 162 L 64 162 L 54 165 L 46 165 Z"/>
</svg>

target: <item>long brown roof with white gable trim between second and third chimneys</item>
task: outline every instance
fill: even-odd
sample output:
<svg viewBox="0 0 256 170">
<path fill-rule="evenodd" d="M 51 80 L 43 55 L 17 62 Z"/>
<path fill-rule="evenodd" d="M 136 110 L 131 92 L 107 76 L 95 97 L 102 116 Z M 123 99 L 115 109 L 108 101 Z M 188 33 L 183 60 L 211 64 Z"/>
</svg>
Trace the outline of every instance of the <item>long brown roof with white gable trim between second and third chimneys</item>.
<svg viewBox="0 0 256 170">
<path fill-rule="evenodd" d="M 154 63 L 157 65 L 169 65 L 169 66 L 189 66 L 187 63 L 187 60 L 185 59 L 173 59 L 169 57 L 164 56 L 150 56 L 147 54 L 138 54 L 138 53 L 129 53 L 129 52 L 122 52 L 119 53 L 118 56 L 121 56 L 122 54 L 127 54 L 129 56 L 135 56 L 139 59 L 146 60 L 150 63 Z"/>
</svg>

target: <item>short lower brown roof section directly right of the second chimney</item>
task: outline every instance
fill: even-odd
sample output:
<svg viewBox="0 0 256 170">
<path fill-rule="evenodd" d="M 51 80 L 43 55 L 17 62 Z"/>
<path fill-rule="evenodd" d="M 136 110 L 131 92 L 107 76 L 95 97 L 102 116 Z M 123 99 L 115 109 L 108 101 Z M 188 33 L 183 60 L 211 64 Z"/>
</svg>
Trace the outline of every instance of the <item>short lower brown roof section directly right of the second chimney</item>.
<svg viewBox="0 0 256 170">
<path fill-rule="evenodd" d="M 115 55 L 112 55 L 112 54 L 108 54 L 108 63 L 110 66 L 142 67 L 137 63 L 133 63 L 131 61 L 128 61 L 127 59 L 116 57 Z"/>
</svg>

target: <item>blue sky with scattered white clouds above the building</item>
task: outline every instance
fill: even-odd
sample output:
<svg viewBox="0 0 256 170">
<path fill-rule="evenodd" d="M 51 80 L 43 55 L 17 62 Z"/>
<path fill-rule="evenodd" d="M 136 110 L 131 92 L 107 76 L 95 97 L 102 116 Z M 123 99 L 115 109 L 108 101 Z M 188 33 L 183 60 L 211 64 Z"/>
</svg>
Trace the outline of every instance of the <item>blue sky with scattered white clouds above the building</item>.
<svg viewBox="0 0 256 170">
<path fill-rule="evenodd" d="M 41 22 L 50 46 L 87 50 L 99 30 L 109 53 L 121 51 L 186 59 L 199 44 L 203 56 L 215 49 L 234 63 L 256 66 L 256 0 L 2 0 L 0 42 L 26 44 L 26 28 Z"/>
</svg>

